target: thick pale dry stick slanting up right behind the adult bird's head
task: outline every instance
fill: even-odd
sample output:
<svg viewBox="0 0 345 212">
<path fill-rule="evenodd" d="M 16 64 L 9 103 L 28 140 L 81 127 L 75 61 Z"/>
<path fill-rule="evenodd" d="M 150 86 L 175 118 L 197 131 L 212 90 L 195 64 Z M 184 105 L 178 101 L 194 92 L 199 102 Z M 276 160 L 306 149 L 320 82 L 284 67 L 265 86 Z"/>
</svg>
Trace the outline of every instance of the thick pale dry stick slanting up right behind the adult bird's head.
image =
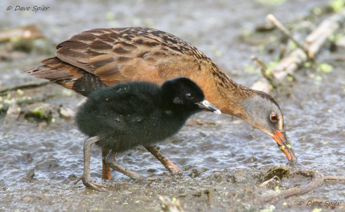
<svg viewBox="0 0 345 212">
<path fill-rule="evenodd" d="M 278 81 L 283 81 L 288 74 L 293 74 L 297 70 L 298 66 L 306 62 L 308 57 L 313 58 L 320 50 L 327 37 L 339 28 L 339 23 L 344 21 L 343 17 L 345 17 L 345 9 L 325 19 L 306 37 L 303 49 L 306 49 L 308 53 L 306 54 L 299 48 L 292 51 L 289 55 L 284 57 L 275 68 L 273 68 L 273 76 Z M 251 88 L 265 91 L 267 93 L 270 91 L 269 83 L 267 81 L 263 82 L 261 78 L 255 82 Z"/>
</svg>

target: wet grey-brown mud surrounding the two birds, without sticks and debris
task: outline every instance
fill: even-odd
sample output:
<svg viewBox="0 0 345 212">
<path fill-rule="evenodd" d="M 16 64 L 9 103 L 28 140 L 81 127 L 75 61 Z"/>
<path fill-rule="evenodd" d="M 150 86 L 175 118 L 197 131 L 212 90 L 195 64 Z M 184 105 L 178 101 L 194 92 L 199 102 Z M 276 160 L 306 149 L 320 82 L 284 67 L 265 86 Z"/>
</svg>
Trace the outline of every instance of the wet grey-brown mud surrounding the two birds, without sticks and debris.
<svg viewBox="0 0 345 212">
<path fill-rule="evenodd" d="M 253 65 L 250 55 L 272 61 L 279 54 L 279 46 L 272 47 L 273 51 L 260 48 L 259 41 L 248 41 L 247 32 L 263 23 L 268 13 L 273 13 L 283 23 L 297 22 L 307 17 L 314 7 L 326 3 L 323 0 L 293 0 L 282 4 L 231 2 L 2 1 L 1 29 L 36 24 L 47 40 L 34 41 L 33 45 L 38 47 L 30 54 L 0 62 L 0 89 L 43 82 L 20 72 L 53 56 L 54 45 L 71 35 L 93 28 L 126 26 L 152 27 L 175 34 L 211 57 L 236 82 L 250 86 L 260 76 L 259 72 L 246 68 Z M 13 9 L 7 11 L 10 5 Z M 35 5 L 49 9 L 36 13 L 14 11 L 16 6 L 32 8 Z M 315 25 L 321 20 L 316 18 Z M 278 31 L 269 33 L 280 34 Z M 331 53 L 327 46 L 324 47 L 316 64 L 295 73 L 296 81 L 289 96 L 286 92 L 272 94 L 284 113 L 285 129 L 298 158 L 291 171 L 314 169 L 324 176 L 345 176 L 345 62 L 336 60 L 343 54 L 343 50 Z M 333 71 L 318 72 L 316 69 L 321 63 L 331 64 Z M 260 192 L 243 195 L 246 190 L 242 189 L 260 184 L 267 170 L 286 165 L 287 159 L 275 141 L 263 132 L 240 119 L 212 113 L 193 117 L 176 136 L 159 145 L 181 168 L 179 174 L 133 182 L 112 172 L 114 180 L 103 182 L 101 152 L 94 147 L 92 179 L 108 185 L 112 192 L 93 191 L 81 182 L 72 185 L 82 173 L 85 136 L 78 132 L 72 119 L 56 114 L 61 106 L 75 110 L 83 97 L 49 83 L 23 89 L 23 94 L 4 94 L 0 103 L 6 105 L 4 99 L 24 96 L 30 96 L 32 103 L 49 104 L 51 114 L 48 124 L 24 114 L 17 120 L 8 120 L 6 125 L 0 124 L 0 211 L 161 211 L 167 202 L 185 211 L 344 210 L 344 181 L 325 181 L 313 192 L 288 199 L 244 204 Z M 28 111 L 26 107 L 29 106 L 22 104 L 20 107 Z M 0 123 L 3 123 L 6 112 L 1 111 Z M 200 124 L 199 119 L 205 122 Z M 117 161 L 145 176 L 165 177 L 168 174 L 144 148 L 129 151 Z M 310 180 L 302 176 L 284 178 L 277 188 L 268 188 L 262 193 L 303 186 Z M 167 199 L 161 200 L 160 196 Z M 298 205 L 300 201 L 304 204 Z M 336 207 L 307 206 L 308 201 L 341 203 Z"/>
</svg>

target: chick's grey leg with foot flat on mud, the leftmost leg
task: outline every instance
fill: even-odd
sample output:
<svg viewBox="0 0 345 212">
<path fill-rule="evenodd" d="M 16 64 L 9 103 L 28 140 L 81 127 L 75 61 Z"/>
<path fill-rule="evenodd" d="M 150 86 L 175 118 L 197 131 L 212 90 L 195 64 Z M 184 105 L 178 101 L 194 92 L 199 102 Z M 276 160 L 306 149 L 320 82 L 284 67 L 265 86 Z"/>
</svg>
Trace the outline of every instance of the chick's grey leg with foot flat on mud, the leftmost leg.
<svg viewBox="0 0 345 212">
<path fill-rule="evenodd" d="M 91 173 L 90 173 L 90 157 L 91 157 L 91 146 L 99 141 L 98 136 L 89 137 L 84 141 L 84 171 L 83 175 L 81 176 L 81 180 L 86 187 L 90 187 L 91 189 L 98 190 L 98 191 L 108 191 L 106 187 L 102 184 L 95 183 L 91 181 Z"/>
</svg>

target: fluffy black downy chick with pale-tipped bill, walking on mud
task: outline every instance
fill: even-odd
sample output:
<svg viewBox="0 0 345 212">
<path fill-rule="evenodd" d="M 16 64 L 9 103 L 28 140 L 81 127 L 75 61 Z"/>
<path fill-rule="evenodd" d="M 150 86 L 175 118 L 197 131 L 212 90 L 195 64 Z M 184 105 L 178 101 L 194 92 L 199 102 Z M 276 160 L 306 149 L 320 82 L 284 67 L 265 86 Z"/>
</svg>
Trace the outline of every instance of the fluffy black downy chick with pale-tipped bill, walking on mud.
<svg viewBox="0 0 345 212">
<path fill-rule="evenodd" d="M 149 82 L 128 82 L 96 90 L 76 114 L 79 130 L 89 136 L 83 148 L 83 184 L 95 190 L 107 190 L 91 181 L 93 144 L 111 150 L 106 163 L 112 169 L 131 179 L 145 179 L 116 162 L 116 153 L 139 145 L 157 144 L 176 134 L 191 115 L 203 110 L 221 114 L 205 99 L 200 87 L 185 77 L 168 80 L 161 87 Z"/>
</svg>

